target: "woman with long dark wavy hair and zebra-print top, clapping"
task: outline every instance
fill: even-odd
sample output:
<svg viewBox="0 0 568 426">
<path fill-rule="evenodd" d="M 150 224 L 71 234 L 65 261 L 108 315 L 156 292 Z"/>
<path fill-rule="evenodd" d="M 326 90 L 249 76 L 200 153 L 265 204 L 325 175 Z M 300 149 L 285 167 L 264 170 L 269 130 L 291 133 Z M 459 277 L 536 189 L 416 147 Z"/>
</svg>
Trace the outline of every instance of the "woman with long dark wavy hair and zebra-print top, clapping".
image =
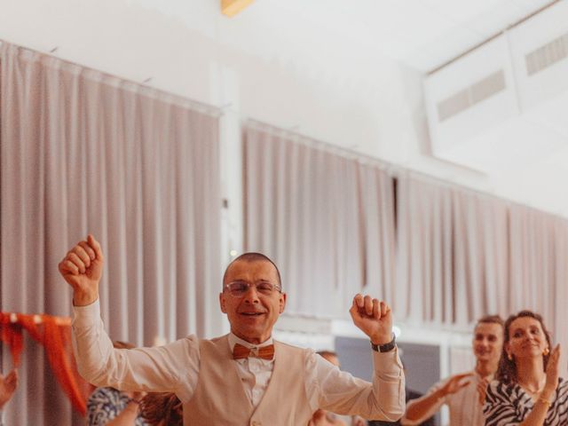
<svg viewBox="0 0 568 426">
<path fill-rule="evenodd" d="M 505 322 L 496 380 L 485 396 L 487 426 L 568 425 L 568 383 L 559 377 L 560 345 L 538 313 L 521 311 Z"/>
</svg>

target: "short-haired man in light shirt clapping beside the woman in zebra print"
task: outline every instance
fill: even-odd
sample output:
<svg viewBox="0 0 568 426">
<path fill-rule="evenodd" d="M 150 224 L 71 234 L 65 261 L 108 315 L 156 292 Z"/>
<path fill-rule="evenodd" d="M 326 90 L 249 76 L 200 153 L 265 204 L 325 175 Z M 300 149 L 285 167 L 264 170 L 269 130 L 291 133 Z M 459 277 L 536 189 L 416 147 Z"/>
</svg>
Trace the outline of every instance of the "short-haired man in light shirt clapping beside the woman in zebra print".
<svg viewBox="0 0 568 426">
<path fill-rule="evenodd" d="M 476 357 L 473 371 L 453 375 L 436 383 L 422 398 L 408 401 L 400 423 L 416 425 L 436 414 L 446 404 L 450 410 L 450 424 L 482 426 L 483 394 L 499 366 L 503 346 L 503 320 L 490 315 L 477 320 L 473 332 L 472 349 Z"/>
</svg>

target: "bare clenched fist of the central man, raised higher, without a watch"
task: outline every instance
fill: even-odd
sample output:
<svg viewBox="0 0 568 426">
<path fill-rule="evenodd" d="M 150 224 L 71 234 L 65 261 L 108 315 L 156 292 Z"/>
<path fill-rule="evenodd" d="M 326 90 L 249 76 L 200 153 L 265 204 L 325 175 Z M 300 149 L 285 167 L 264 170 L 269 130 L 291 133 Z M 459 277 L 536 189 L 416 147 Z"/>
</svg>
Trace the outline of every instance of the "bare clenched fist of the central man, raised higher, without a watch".
<svg viewBox="0 0 568 426">
<path fill-rule="evenodd" d="M 59 262 L 59 273 L 73 288 L 73 304 L 86 306 L 99 298 L 104 257 L 99 241 L 91 234 L 79 241 Z"/>
</svg>

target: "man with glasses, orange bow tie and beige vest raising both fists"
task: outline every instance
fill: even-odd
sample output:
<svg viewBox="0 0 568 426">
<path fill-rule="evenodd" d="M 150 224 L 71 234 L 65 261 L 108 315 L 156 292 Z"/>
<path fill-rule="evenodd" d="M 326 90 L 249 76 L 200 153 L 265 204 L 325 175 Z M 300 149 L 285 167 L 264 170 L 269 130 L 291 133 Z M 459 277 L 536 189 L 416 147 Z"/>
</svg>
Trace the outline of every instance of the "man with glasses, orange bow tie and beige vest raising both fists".
<svg viewBox="0 0 568 426">
<path fill-rule="evenodd" d="M 375 375 L 367 383 L 311 350 L 272 340 L 284 311 L 280 272 L 259 253 L 237 257 L 219 295 L 231 333 L 212 340 L 190 335 L 159 348 L 116 351 L 99 312 L 103 255 L 92 235 L 72 248 L 59 272 L 74 289 L 73 335 L 80 373 L 121 390 L 170 391 L 183 403 L 185 424 L 305 425 L 318 408 L 370 419 L 404 412 L 404 374 L 384 302 L 357 295 L 351 318 L 371 340 Z"/>
</svg>

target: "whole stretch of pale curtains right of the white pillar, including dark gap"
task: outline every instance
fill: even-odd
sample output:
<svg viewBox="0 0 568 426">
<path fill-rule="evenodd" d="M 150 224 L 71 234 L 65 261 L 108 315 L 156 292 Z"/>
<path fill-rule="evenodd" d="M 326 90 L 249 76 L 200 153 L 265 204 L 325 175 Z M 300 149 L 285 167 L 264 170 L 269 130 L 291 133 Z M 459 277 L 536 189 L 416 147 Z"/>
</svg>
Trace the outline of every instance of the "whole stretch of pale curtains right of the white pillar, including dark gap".
<svg viewBox="0 0 568 426">
<path fill-rule="evenodd" d="M 568 220 L 258 122 L 243 149 L 246 248 L 280 264 L 288 312 L 341 317 L 366 291 L 469 331 L 532 309 L 568 345 Z"/>
</svg>

